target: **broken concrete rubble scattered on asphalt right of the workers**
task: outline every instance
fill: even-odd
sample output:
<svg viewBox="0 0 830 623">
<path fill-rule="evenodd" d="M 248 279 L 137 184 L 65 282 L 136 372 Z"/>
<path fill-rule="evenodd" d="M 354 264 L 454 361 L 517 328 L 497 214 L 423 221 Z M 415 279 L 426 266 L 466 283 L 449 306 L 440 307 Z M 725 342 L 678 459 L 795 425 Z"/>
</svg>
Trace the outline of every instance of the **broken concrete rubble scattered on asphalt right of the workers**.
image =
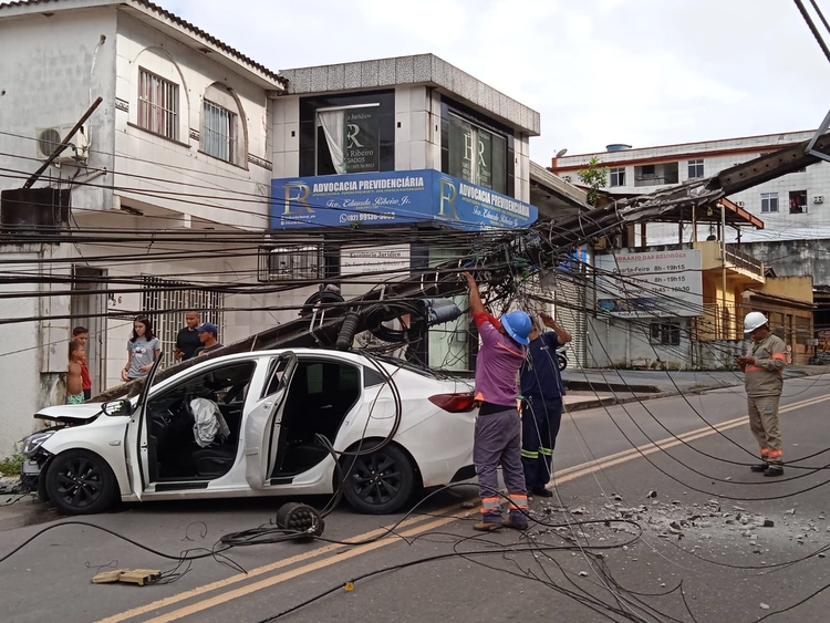
<svg viewBox="0 0 830 623">
<path fill-rule="evenodd" d="M 636 506 L 632 506 L 630 500 L 624 500 L 616 494 L 609 498 L 602 496 L 599 503 L 568 508 L 540 500 L 533 505 L 532 512 L 543 522 L 566 526 L 540 527 L 538 533 L 556 531 L 562 536 L 569 533 L 580 539 L 584 538 L 588 543 L 604 543 L 611 540 L 610 532 L 640 533 L 635 526 L 608 521 L 625 519 L 640 525 L 646 542 L 651 542 L 653 537 L 671 539 L 692 552 L 705 543 L 719 543 L 726 547 L 734 544 L 738 552 L 761 555 L 770 551 L 769 546 L 781 546 L 787 542 L 805 546 L 803 553 L 808 554 L 830 540 L 826 534 L 830 533 L 827 515 L 819 512 L 816 517 L 802 516 L 798 511 L 798 503 L 793 503 L 792 508 L 782 513 L 760 515 L 749 510 L 748 505 L 740 506 L 716 498 L 703 502 L 685 502 L 679 499 L 663 501 L 656 491 L 649 491 L 645 500 Z M 587 519 L 605 521 L 568 526 Z M 686 544 L 684 541 L 694 541 L 697 544 Z M 625 549 L 627 551 L 627 548 Z M 818 557 L 824 558 L 824 553 L 819 553 Z M 759 560 L 758 563 L 765 562 Z"/>
</svg>

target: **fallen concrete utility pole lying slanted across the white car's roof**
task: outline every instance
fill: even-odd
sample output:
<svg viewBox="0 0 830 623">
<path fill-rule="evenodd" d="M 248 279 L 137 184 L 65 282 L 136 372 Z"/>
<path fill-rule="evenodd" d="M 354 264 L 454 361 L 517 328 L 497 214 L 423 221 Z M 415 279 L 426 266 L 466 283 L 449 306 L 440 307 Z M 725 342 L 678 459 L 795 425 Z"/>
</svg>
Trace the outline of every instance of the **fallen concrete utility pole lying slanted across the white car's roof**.
<svg viewBox="0 0 830 623">
<path fill-rule="evenodd" d="M 662 214 L 677 207 L 713 204 L 727 195 L 751 188 L 813 164 L 819 158 L 806 153 L 809 143 L 809 141 L 806 141 L 799 145 L 767 154 L 725 169 L 710 178 L 689 180 L 672 188 L 621 199 L 608 206 L 562 219 L 557 224 L 539 224 L 529 231 L 515 232 L 512 236 L 506 232 L 502 239 L 502 248 L 510 248 L 512 257 L 522 257 L 530 266 L 558 266 L 559 262 L 553 259 L 557 255 L 572 250 L 574 246 L 585 243 L 599 236 L 610 235 L 634 222 L 657 219 Z M 813 145 L 813 149 L 830 155 L 830 134 L 821 136 Z M 478 258 L 471 270 L 489 271 L 488 266 L 490 263 L 504 262 L 504 250 L 496 251 L 490 257 Z M 394 304 L 397 301 L 421 298 L 449 297 L 465 292 L 467 285 L 459 273 L 467 270 L 465 264 L 471 262 L 471 256 L 469 262 L 466 260 L 445 262 L 405 280 L 390 282 L 383 288 L 377 288 L 343 303 L 328 303 L 317 312 L 305 313 L 297 320 L 268 329 L 205 356 L 212 359 L 232 353 L 271 349 L 331 347 L 336 342 L 344 315 L 350 309 L 354 309 L 359 313 L 357 332 L 365 331 L 365 312 L 371 305 L 383 304 L 384 302 Z M 505 274 L 509 276 L 509 271 L 505 270 Z M 173 365 L 158 373 L 156 380 L 160 381 L 173 374 L 178 374 L 201 361 L 205 361 L 205 359 L 199 357 Z M 142 380 L 137 380 L 118 385 L 98 394 L 94 399 L 108 401 L 137 392 L 141 384 Z"/>
</svg>

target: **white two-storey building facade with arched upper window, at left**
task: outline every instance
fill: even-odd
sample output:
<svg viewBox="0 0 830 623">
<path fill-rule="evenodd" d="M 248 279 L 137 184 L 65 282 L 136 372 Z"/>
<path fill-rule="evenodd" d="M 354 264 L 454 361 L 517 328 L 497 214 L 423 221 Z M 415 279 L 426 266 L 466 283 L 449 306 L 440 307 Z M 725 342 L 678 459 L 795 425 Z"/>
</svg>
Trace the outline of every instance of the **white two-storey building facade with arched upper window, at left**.
<svg viewBox="0 0 830 623">
<path fill-rule="evenodd" d="M 51 316 L 0 326 L 11 396 L 0 413 L 3 455 L 31 430 L 35 409 L 62 402 L 73 326 L 91 330 L 95 393 L 121 382 L 138 313 L 151 314 L 172 362 L 187 309 L 217 322 L 229 343 L 291 316 L 248 310 L 294 299 L 220 288 L 257 283 L 251 237 L 269 217 L 269 108 L 286 85 L 274 72 L 151 2 L 60 0 L 0 4 L 0 166 L 10 172 L 0 189 L 20 188 L 103 98 L 35 184 L 69 190 L 58 228 L 74 243 L 29 230 L 24 243 L 0 246 L 7 270 L 30 262 L 17 266 L 60 278 L 0 302 L 3 318 Z"/>
</svg>

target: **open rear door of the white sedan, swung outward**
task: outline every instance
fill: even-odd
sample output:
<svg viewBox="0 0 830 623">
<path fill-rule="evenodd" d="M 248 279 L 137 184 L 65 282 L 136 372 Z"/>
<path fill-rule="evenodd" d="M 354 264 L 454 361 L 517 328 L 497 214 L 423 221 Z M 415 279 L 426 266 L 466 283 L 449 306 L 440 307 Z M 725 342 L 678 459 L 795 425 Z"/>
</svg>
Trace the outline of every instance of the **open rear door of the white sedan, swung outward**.
<svg viewBox="0 0 830 623">
<path fill-rule="evenodd" d="M 270 485 L 272 447 L 280 436 L 282 407 L 295 370 L 297 355 L 291 351 L 273 359 L 262 385 L 262 397 L 245 422 L 245 478 L 251 489 Z"/>
</svg>

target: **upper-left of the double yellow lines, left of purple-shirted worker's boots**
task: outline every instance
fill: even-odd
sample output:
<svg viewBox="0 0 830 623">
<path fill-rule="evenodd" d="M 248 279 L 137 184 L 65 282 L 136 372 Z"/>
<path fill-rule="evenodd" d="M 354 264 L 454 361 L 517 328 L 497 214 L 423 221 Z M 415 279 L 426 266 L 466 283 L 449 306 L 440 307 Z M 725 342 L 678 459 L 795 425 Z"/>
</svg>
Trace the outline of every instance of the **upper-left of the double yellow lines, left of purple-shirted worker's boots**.
<svg viewBox="0 0 830 623">
<path fill-rule="evenodd" d="M 458 508 L 459 505 L 453 505 L 447 508 L 440 509 L 435 511 L 435 515 L 445 515 L 447 512 L 453 512 Z M 426 517 L 413 517 L 411 519 L 407 519 L 403 521 L 400 526 L 397 526 L 396 530 L 401 528 L 406 528 L 407 526 L 413 526 L 414 523 L 418 523 L 421 521 L 426 520 Z M 384 534 L 388 532 L 388 529 L 392 528 L 392 526 L 385 527 L 385 528 L 377 528 L 376 530 L 371 530 L 369 532 L 364 532 L 363 534 L 357 534 L 356 537 L 351 537 L 347 540 L 350 541 L 365 541 L 366 539 L 371 539 L 373 537 L 377 537 L 380 534 Z M 312 558 L 317 558 L 319 555 L 323 555 L 325 553 L 330 553 L 336 550 L 340 550 L 347 546 L 342 546 L 338 543 L 332 543 L 329 546 L 324 546 L 322 548 L 317 548 L 303 553 L 299 553 L 297 555 L 292 555 L 291 558 L 286 558 L 283 560 L 278 560 L 277 562 L 272 562 L 270 564 L 266 564 L 263 567 L 258 567 L 256 569 L 251 569 L 248 571 L 248 573 L 238 573 L 236 575 L 231 575 L 230 578 L 226 578 L 224 580 L 218 580 L 216 582 L 211 582 L 209 584 L 204 584 L 201 586 L 197 586 L 195 589 L 190 589 L 189 591 L 184 591 L 181 593 L 176 593 L 175 595 L 170 595 L 168 598 L 164 598 L 160 600 L 156 600 L 154 602 L 151 602 L 145 605 L 141 605 L 137 608 L 133 608 L 131 610 L 126 610 L 124 612 L 120 612 L 117 614 L 113 614 L 112 616 L 107 616 L 105 619 L 101 619 L 96 621 L 95 623 L 120 623 L 121 621 L 126 621 L 127 619 L 133 619 L 134 616 L 138 616 L 139 614 L 146 614 L 147 612 L 153 612 L 155 610 L 158 610 L 160 608 L 166 608 L 168 605 L 173 605 L 174 603 L 178 603 L 184 600 L 188 600 L 191 598 L 199 596 L 204 593 L 215 591 L 217 589 L 224 589 L 225 586 L 229 586 L 231 584 L 236 584 L 237 582 L 242 582 L 245 580 L 249 580 L 251 578 L 256 578 L 257 575 L 261 575 L 262 573 L 268 573 L 270 571 L 276 571 L 277 569 L 281 569 L 283 567 L 290 567 L 291 564 L 295 564 L 298 562 L 303 562 L 305 560 L 310 560 Z M 340 560 L 339 557 L 338 560 Z"/>
</svg>

